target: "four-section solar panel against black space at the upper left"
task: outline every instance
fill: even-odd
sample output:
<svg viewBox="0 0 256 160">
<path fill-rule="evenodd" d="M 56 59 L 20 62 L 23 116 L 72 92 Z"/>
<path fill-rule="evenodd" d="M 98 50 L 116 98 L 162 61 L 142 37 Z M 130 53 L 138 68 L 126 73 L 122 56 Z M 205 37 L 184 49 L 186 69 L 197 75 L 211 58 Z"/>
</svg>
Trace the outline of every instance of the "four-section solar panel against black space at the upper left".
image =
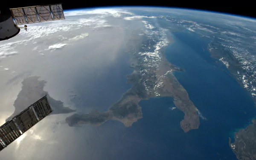
<svg viewBox="0 0 256 160">
<path fill-rule="evenodd" d="M 30 6 L 10 10 L 17 25 L 65 19 L 61 4 Z"/>
</svg>

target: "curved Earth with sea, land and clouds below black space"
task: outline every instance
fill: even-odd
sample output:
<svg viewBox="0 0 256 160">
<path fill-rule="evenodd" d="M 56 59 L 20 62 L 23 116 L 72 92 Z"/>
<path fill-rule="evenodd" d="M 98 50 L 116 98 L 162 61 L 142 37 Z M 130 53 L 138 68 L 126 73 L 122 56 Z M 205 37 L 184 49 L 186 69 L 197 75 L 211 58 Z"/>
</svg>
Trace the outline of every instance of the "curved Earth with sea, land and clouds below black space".
<svg viewBox="0 0 256 160">
<path fill-rule="evenodd" d="M 256 160 L 256 20 L 198 10 L 64 10 L 0 42 L 1 125 L 53 112 L 5 160 Z"/>
</svg>

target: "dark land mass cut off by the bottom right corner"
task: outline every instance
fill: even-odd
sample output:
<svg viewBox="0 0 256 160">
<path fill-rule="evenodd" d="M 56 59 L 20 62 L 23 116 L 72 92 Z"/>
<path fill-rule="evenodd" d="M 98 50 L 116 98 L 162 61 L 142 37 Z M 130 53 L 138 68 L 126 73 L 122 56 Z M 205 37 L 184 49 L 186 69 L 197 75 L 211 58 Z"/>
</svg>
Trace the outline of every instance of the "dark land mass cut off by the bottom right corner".
<svg viewBox="0 0 256 160">
<path fill-rule="evenodd" d="M 229 141 L 230 148 L 239 160 L 256 160 L 256 119 L 253 124 L 235 133 L 235 142 Z"/>
</svg>

